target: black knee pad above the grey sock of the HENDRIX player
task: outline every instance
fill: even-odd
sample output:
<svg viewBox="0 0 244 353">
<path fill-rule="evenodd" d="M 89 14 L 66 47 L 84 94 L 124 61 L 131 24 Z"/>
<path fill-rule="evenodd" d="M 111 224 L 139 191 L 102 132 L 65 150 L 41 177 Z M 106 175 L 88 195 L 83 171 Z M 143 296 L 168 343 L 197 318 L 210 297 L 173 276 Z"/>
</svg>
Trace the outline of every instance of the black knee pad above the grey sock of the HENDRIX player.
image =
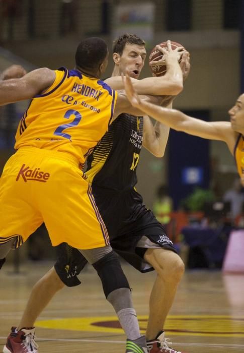
<svg viewBox="0 0 244 353">
<path fill-rule="evenodd" d="M 119 288 L 129 288 L 129 283 L 120 266 L 119 258 L 114 251 L 105 255 L 102 259 L 93 264 L 103 284 L 105 297 Z"/>
</svg>

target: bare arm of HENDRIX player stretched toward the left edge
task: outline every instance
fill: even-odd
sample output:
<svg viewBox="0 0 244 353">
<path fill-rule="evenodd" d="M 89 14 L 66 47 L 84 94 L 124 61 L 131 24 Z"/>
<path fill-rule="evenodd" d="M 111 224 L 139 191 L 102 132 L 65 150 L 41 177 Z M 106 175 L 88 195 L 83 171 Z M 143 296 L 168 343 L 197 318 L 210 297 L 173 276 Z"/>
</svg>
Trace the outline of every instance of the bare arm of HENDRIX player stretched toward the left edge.
<svg viewBox="0 0 244 353">
<path fill-rule="evenodd" d="M 20 79 L 0 82 L 0 105 L 31 99 L 49 88 L 56 74 L 53 70 L 42 68 L 31 71 Z"/>
</svg>

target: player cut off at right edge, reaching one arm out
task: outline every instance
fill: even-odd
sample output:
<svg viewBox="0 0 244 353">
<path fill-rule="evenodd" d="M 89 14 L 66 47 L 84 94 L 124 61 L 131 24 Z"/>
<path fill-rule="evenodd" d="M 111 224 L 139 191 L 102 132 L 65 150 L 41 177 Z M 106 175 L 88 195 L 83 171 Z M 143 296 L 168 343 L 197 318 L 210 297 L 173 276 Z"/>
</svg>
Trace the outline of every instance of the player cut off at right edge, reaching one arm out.
<svg viewBox="0 0 244 353">
<path fill-rule="evenodd" d="M 225 142 L 235 158 L 239 177 L 244 184 L 244 93 L 228 111 L 230 122 L 205 122 L 179 110 L 159 107 L 140 99 L 129 75 L 125 78 L 125 90 L 134 107 L 140 107 L 144 113 L 154 117 L 158 122 L 190 135 Z"/>
</svg>

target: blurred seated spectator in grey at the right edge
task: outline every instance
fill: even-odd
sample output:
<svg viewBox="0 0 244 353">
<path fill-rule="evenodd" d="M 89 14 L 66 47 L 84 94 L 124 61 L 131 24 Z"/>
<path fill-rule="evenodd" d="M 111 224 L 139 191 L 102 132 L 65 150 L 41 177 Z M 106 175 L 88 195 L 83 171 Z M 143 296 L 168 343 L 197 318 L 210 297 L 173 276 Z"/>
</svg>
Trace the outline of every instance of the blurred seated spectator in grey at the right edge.
<svg viewBox="0 0 244 353">
<path fill-rule="evenodd" d="M 242 186 L 239 178 L 233 182 L 231 189 L 227 190 L 223 196 L 224 201 L 230 202 L 230 216 L 234 220 L 242 212 L 244 203 L 244 194 L 242 193 Z"/>
</svg>

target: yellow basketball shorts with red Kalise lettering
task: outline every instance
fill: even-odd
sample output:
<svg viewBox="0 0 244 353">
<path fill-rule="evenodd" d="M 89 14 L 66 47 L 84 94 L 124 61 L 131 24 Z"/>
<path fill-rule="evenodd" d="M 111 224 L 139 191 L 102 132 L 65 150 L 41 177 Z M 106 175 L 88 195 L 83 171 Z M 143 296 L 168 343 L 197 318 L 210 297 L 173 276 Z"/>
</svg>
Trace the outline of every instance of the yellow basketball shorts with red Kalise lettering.
<svg viewBox="0 0 244 353">
<path fill-rule="evenodd" d="M 0 244 L 17 237 L 18 247 L 45 222 L 53 246 L 108 245 L 106 226 L 83 176 L 68 153 L 20 148 L 0 179 Z"/>
</svg>

